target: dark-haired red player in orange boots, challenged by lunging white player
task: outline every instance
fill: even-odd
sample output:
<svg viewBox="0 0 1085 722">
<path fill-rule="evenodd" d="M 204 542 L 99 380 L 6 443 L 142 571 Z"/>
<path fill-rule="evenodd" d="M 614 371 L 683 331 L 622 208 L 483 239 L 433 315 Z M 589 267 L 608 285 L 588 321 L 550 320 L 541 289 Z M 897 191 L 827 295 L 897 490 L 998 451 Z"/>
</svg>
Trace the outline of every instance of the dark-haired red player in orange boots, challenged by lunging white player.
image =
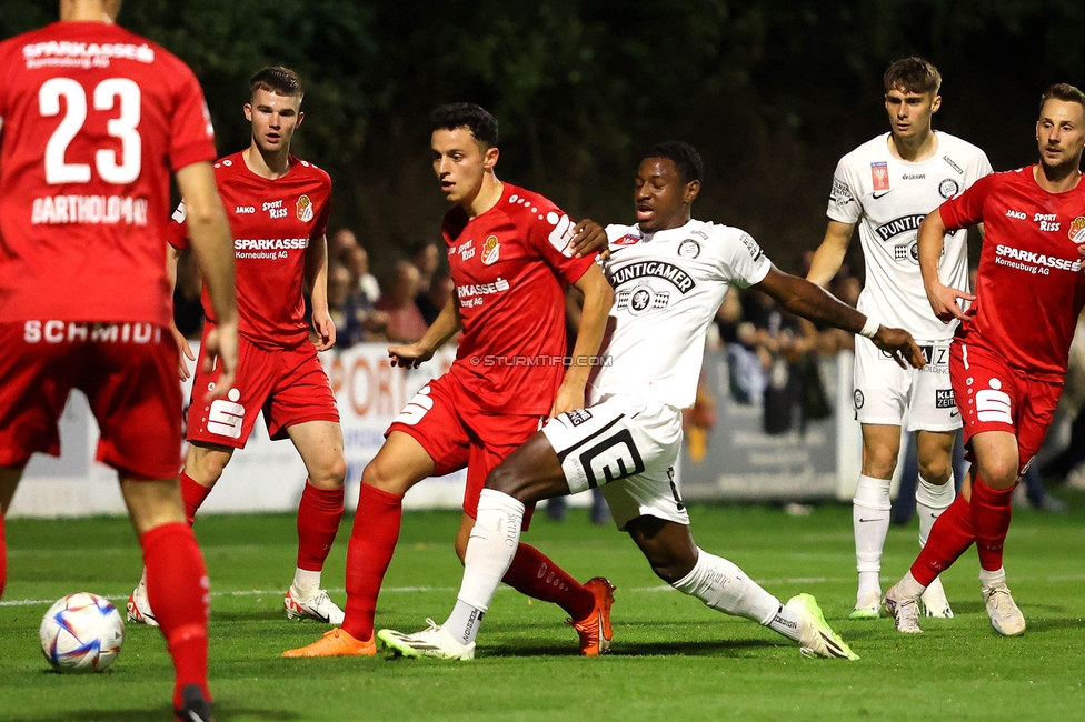
<svg viewBox="0 0 1085 722">
<path fill-rule="evenodd" d="M 399 537 L 404 493 L 427 477 L 467 467 L 456 539 L 462 561 L 486 474 L 548 415 L 584 405 L 588 358 L 603 339 L 613 291 L 591 260 L 604 245 L 601 229 L 588 221 L 574 227 L 538 193 L 497 179 L 497 121 L 482 108 L 441 106 L 432 121 L 434 170 L 456 203 L 442 233 L 457 293 L 420 341 L 391 347 L 389 354 L 395 364 L 416 367 L 462 329 L 456 361 L 408 402 L 362 472 L 342 626 L 285 656 L 375 654 L 374 611 Z M 561 363 L 567 283 L 585 297 L 573 352 L 583 363 L 568 371 Z M 581 653 L 609 648 L 614 588 L 605 579 L 581 585 L 521 543 L 504 581 L 565 609 Z"/>
</svg>

